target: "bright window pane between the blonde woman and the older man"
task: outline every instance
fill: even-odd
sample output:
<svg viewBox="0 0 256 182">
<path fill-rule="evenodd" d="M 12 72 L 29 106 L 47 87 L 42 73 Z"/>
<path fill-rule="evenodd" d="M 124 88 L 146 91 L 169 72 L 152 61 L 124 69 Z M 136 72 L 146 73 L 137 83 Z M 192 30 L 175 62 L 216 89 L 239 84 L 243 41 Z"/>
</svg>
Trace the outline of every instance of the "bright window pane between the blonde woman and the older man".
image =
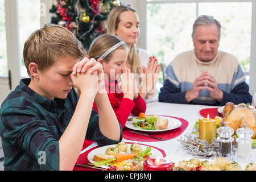
<svg viewBox="0 0 256 182">
<path fill-rule="evenodd" d="M 148 3 L 147 51 L 150 55 L 169 64 L 179 53 L 192 49 L 191 30 L 195 18 L 195 3 Z M 159 82 L 163 82 L 162 73 Z"/>
</svg>

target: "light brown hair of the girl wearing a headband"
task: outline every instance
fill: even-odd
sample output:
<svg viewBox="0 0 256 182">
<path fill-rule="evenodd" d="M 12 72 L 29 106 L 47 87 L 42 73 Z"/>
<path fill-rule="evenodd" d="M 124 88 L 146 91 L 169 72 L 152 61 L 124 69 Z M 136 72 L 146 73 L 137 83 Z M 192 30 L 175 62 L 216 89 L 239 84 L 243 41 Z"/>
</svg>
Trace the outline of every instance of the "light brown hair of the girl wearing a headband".
<svg viewBox="0 0 256 182">
<path fill-rule="evenodd" d="M 105 52 L 107 52 L 110 48 L 112 48 L 113 46 L 115 46 L 115 44 L 119 42 L 122 42 L 122 39 L 118 38 L 118 36 L 114 34 L 100 35 L 90 45 L 88 56 L 98 60 Z M 115 50 L 118 50 L 121 48 L 125 48 L 128 51 L 128 47 L 126 46 L 126 44 L 122 44 L 121 46 L 117 47 Z M 108 56 L 104 57 L 103 61 L 108 62 L 112 58 L 112 55 L 113 55 L 112 53 L 109 53 Z"/>
</svg>

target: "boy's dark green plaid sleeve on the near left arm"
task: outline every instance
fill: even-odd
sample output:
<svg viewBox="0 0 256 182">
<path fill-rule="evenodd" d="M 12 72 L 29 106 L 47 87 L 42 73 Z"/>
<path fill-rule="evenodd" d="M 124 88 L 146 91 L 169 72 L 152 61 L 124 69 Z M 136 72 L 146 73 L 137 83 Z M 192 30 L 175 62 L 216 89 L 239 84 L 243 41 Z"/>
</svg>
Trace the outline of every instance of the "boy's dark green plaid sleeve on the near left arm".
<svg viewBox="0 0 256 182">
<path fill-rule="evenodd" d="M 8 107 L 2 112 L 1 120 L 3 145 L 6 151 L 10 150 L 10 154 L 13 154 L 10 158 L 15 158 L 14 146 L 29 154 L 22 158 L 16 156 L 18 162 L 16 168 L 14 166 L 12 169 L 19 170 L 19 166 L 31 165 L 35 170 L 59 170 L 59 142 L 49 132 L 46 121 L 39 119 L 38 113 L 29 107 L 26 110 Z M 10 158 L 5 155 L 7 166 Z"/>
</svg>

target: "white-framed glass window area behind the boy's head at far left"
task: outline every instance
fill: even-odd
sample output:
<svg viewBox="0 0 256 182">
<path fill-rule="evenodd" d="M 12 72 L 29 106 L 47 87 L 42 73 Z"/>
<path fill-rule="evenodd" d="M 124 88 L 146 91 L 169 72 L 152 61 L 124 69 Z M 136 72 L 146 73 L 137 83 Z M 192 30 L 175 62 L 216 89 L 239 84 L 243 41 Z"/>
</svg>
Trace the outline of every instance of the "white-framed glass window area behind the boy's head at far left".
<svg viewBox="0 0 256 182">
<path fill-rule="evenodd" d="M 51 15 L 47 12 L 52 3 L 53 0 L 0 0 L 0 104 L 20 78 L 28 77 L 23 63 L 24 42 L 49 23 Z"/>
</svg>

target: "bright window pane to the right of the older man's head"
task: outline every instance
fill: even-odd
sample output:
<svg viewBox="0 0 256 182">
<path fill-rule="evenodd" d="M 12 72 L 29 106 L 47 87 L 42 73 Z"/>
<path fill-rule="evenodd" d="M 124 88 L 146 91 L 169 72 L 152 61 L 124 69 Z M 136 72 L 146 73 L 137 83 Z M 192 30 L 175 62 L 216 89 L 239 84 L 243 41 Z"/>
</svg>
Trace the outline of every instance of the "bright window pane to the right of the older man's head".
<svg viewBox="0 0 256 182">
<path fill-rule="evenodd" d="M 199 3 L 199 15 L 212 15 L 221 23 L 219 49 L 236 56 L 245 73 L 250 72 L 251 4 L 251 2 Z"/>
</svg>

